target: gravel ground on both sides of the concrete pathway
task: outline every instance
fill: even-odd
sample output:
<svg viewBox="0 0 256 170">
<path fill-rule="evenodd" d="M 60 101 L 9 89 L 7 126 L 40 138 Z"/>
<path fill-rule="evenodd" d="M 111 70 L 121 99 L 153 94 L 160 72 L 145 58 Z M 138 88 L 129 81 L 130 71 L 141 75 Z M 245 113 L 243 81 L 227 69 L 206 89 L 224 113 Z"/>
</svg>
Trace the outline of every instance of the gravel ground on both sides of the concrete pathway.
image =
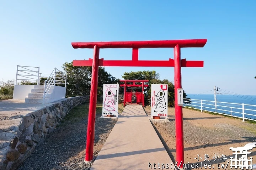
<svg viewBox="0 0 256 170">
<path fill-rule="evenodd" d="M 176 140 L 173 110 L 169 109 L 170 114 L 168 111 L 169 122 L 154 120 L 151 122 L 166 147 L 167 153 L 175 163 Z M 145 108 L 145 111 L 150 115 L 150 108 Z M 117 121 L 117 119 L 99 119 L 100 116 L 101 114 L 96 114 L 95 156 L 100 152 Z M 229 147 L 241 147 L 246 143 L 256 141 L 255 133 L 246 129 L 247 127 L 255 131 L 256 125 L 253 124 L 188 109 L 184 109 L 183 117 L 185 163 L 194 162 L 194 156 L 197 154 L 202 158 L 204 154 L 209 154 L 210 157 L 212 156 L 210 154 L 216 154 L 221 158 L 222 153 L 232 153 Z M 49 135 L 49 138 L 36 147 L 36 150 L 18 170 L 90 169 L 92 163 L 84 163 L 87 120 L 87 116 L 76 121 L 66 120 Z M 252 157 L 256 159 L 255 155 L 256 152 Z M 230 156 L 227 155 L 228 158 Z M 217 160 L 214 163 L 212 162 L 216 166 L 217 163 L 223 162 Z"/>
</svg>

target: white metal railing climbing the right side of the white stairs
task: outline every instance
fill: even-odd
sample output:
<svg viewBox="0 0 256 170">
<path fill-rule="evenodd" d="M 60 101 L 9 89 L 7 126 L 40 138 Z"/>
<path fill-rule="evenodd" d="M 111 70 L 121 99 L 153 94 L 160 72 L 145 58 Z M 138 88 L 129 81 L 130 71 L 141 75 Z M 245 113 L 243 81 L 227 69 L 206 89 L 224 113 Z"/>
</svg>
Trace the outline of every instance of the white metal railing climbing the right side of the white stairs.
<svg viewBox="0 0 256 170">
<path fill-rule="evenodd" d="M 44 80 L 43 104 L 46 95 L 49 93 L 52 86 L 55 86 L 56 84 L 63 84 L 66 87 L 66 74 L 64 74 L 60 70 L 58 70 L 57 72 L 57 70 L 57 68 L 54 68 L 52 73 L 49 74 L 49 77 Z"/>
</svg>

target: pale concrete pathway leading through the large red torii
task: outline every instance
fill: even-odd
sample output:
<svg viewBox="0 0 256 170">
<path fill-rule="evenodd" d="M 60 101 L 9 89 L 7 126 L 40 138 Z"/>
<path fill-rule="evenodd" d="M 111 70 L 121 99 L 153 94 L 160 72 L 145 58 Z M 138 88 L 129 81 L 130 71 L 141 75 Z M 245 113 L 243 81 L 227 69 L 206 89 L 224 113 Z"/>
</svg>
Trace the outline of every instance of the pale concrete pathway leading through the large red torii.
<svg viewBox="0 0 256 170">
<path fill-rule="evenodd" d="M 142 106 L 128 105 L 118 118 L 90 170 L 155 169 L 154 163 L 156 169 L 174 168 Z M 160 165 L 157 165 L 158 163 Z M 169 167 L 166 167 L 166 164 Z"/>
</svg>

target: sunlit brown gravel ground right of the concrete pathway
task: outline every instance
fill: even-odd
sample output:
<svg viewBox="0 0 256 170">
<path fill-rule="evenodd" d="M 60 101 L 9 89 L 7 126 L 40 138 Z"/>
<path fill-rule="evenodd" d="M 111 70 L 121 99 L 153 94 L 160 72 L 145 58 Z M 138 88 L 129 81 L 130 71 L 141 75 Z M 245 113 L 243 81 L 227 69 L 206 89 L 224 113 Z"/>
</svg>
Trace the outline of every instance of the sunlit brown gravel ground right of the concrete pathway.
<svg viewBox="0 0 256 170">
<path fill-rule="evenodd" d="M 145 111 L 150 116 L 150 107 L 146 107 Z M 175 163 L 176 135 L 174 115 L 174 108 L 168 108 L 169 122 L 151 120 L 151 123 L 172 162 Z M 242 147 L 247 143 L 256 142 L 256 125 L 221 115 L 183 109 L 183 137 L 185 163 L 211 163 L 217 168 L 218 163 L 226 165 L 229 162 L 229 158 L 234 157 L 230 147 Z M 256 149 L 253 149 L 252 154 L 248 155 L 248 157 L 252 157 L 255 160 L 255 151 Z M 205 154 L 209 155 L 211 162 L 204 161 Z M 222 154 L 228 158 L 225 162 L 220 160 L 223 158 Z M 194 159 L 197 155 L 202 157 L 202 160 Z M 218 156 L 215 161 L 213 161 L 214 155 Z M 255 164 L 255 161 L 252 163 Z M 192 168 L 190 167 L 189 169 Z M 229 170 L 230 166 L 227 166 L 226 169 Z"/>
</svg>

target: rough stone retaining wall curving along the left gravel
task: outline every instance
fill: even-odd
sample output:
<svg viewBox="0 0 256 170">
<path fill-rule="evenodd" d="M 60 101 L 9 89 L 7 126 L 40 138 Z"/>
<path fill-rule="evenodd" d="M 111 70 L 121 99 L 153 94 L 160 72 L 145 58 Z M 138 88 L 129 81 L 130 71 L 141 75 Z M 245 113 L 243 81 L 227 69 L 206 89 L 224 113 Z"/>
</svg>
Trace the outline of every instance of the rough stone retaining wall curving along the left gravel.
<svg viewBox="0 0 256 170">
<path fill-rule="evenodd" d="M 34 151 L 36 145 L 48 137 L 70 109 L 88 103 L 89 99 L 89 96 L 65 98 L 24 116 L 17 128 L 16 137 L 5 148 L 7 154 L 0 162 L 0 170 L 16 169 Z"/>
</svg>

